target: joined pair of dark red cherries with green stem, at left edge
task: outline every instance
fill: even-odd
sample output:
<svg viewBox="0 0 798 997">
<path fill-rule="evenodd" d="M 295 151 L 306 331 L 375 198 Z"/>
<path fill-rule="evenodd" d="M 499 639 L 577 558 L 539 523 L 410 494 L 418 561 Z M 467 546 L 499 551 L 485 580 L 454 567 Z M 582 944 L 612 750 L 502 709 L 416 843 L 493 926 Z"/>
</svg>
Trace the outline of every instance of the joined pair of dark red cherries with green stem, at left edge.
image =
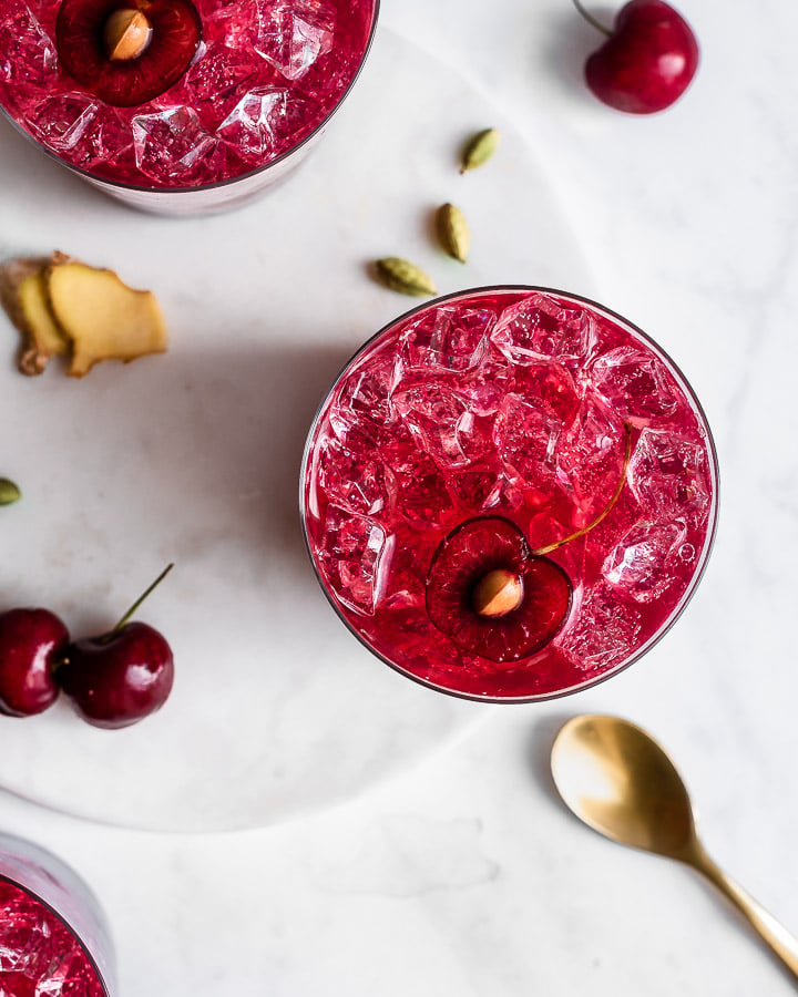
<svg viewBox="0 0 798 997">
<path fill-rule="evenodd" d="M 106 730 L 130 727 L 158 710 L 174 682 L 172 649 L 162 634 L 132 616 L 172 567 L 96 637 L 72 641 L 49 609 L 0 614 L 0 713 L 33 717 L 61 692 L 86 723 Z"/>
</svg>

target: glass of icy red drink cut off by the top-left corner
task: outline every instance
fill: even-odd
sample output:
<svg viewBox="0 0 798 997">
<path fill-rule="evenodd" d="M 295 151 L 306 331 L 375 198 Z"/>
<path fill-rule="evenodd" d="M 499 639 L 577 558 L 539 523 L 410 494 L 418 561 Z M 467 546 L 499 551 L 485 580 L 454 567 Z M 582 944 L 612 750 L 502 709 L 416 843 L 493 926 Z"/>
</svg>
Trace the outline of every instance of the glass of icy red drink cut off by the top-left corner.
<svg viewBox="0 0 798 997">
<path fill-rule="evenodd" d="M 162 93 L 117 106 L 64 69 L 64 47 L 89 44 L 59 33 L 65 3 L 0 4 L 0 109 L 92 186 L 174 215 L 238 207 L 294 172 L 355 84 L 379 10 L 379 0 L 194 0 L 193 61 Z M 105 17 L 167 4 L 94 6 Z"/>
</svg>

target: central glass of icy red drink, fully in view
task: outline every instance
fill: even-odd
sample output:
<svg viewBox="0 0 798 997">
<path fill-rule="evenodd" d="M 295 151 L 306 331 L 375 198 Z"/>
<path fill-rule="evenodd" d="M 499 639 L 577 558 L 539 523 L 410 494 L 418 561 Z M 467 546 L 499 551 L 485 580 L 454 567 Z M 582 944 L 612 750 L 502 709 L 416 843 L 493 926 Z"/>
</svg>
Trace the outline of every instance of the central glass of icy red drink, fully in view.
<svg viewBox="0 0 798 997">
<path fill-rule="evenodd" d="M 704 412 L 649 337 L 508 286 L 422 305 L 355 354 L 310 429 L 300 508 L 327 598 L 377 657 L 528 701 L 615 675 L 671 627 L 717 486 Z"/>
</svg>

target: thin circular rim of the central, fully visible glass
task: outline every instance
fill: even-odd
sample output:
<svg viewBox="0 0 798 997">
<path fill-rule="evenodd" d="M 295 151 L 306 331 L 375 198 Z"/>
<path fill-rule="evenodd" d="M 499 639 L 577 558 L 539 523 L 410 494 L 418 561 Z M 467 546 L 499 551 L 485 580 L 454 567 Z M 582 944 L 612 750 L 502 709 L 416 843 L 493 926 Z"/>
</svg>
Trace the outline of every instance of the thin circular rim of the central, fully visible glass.
<svg viewBox="0 0 798 997">
<path fill-rule="evenodd" d="M 628 658 L 621 661 L 618 665 L 615 665 L 606 672 L 594 676 L 592 678 L 586 679 L 583 682 L 579 682 L 577 685 L 571 685 L 563 689 L 557 689 L 552 692 L 542 692 L 542 693 L 533 693 L 525 696 L 497 696 L 497 695 L 481 695 L 479 692 L 463 692 L 459 689 L 452 689 L 448 686 L 443 686 L 440 682 L 432 681 L 430 679 L 422 678 L 421 676 L 413 675 L 411 671 L 402 668 L 400 665 L 391 661 L 390 658 L 386 657 L 382 652 L 377 650 L 375 647 L 367 641 L 361 634 L 349 623 L 347 617 L 341 611 L 338 602 L 332 597 L 329 590 L 329 586 L 321 577 L 319 568 L 316 564 L 316 558 L 314 556 L 314 548 L 310 543 L 310 537 L 308 534 L 307 527 L 307 506 L 306 506 L 306 487 L 305 487 L 305 479 L 308 467 L 308 461 L 311 453 L 315 450 L 315 435 L 318 428 L 319 420 L 326 409 L 326 405 L 332 395 L 336 387 L 338 386 L 341 378 L 347 373 L 347 371 L 355 364 L 358 358 L 366 352 L 380 337 L 387 335 L 397 326 L 408 321 L 413 316 L 419 315 L 422 311 L 426 311 L 430 308 L 437 308 L 441 305 L 444 305 L 448 301 L 454 301 L 460 298 L 471 298 L 478 295 L 487 295 L 487 294 L 522 294 L 522 295 L 532 295 L 532 294 L 543 294 L 551 295 L 553 297 L 564 298 L 566 300 L 575 301 L 581 305 L 585 305 L 589 308 L 594 309 L 600 314 L 604 314 L 611 319 L 620 322 L 623 327 L 627 328 L 635 336 L 640 337 L 645 343 L 647 343 L 653 351 L 659 356 L 669 368 L 672 373 L 675 374 L 679 387 L 683 389 L 687 400 L 692 403 L 696 414 L 698 415 L 702 429 L 706 432 L 707 440 L 707 452 L 709 454 L 709 474 L 713 484 L 713 497 L 712 504 L 709 507 L 709 520 L 707 524 L 707 533 L 704 539 L 704 545 L 700 552 L 700 561 L 696 567 L 696 571 L 693 573 L 693 576 L 687 584 L 682 597 L 678 603 L 674 606 L 674 608 L 668 614 L 666 620 L 662 626 L 646 640 L 641 647 L 634 650 Z M 573 696 L 576 692 L 583 692 L 587 689 L 592 689 L 595 686 L 605 682 L 607 679 L 614 678 L 616 675 L 620 675 L 622 671 L 625 671 L 632 665 L 640 661 L 648 651 L 655 647 L 662 638 L 671 630 L 676 620 L 682 616 L 684 610 L 687 608 L 690 599 L 695 595 L 698 585 L 704 577 L 704 573 L 706 571 L 707 563 L 709 561 L 709 555 L 713 552 L 715 546 L 715 538 L 717 535 L 717 521 L 718 521 L 718 505 L 719 505 L 719 490 L 720 490 L 720 471 L 717 459 L 717 449 L 715 446 L 715 438 L 713 435 L 712 428 L 709 425 L 709 421 L 706 417 L 704 408 L 702 407 L 700 401 L 698 400 L 695 391 L 693 390 L 693 386 L 689 383 L 685 374 L 682 372 L 682 369 L 674 362 L 671 356 L 659 346 L 656 340 L 654 340 L 647 332 L 644 332 L 640 326 L 636 326 L 634 322 L 630 321 L 627 318 L 622 316 L 617 311 L 613 311 L 612 308 L 607 308 L 606 305 L 602 305 L 600 301 L 595 301 L 592 298 L 587 298 L 584 295 L 574 294 L 573 291 L 565 291 L 559 288 L 552 287 L 543 287 L 540 285 L 523 285 L 523 284 L 498 284 L 498 285 L 487 285 L 484 287 L 471 287 L 464 290 L 452 291 L 448 295 L 441 295 L 440 297 L 431 298 L 428 301 L 424 301 L 422 305 L 418 305 L 416 308 L 411 308 L 406 311 L 403 315 L 398 316 L 391 321 L 387 322 L 382 326 L 377 332 L 370 336 L 358 349 L 352 353 L 352 356 L 347 360 L 347 362 L 341 367 L 338 374 L 332 380 L 329 389 L 325 392 L 324 398 L 321 399 L 318 408 L 316 409 L 316 413 L 314 414 L 313 421 L 310 423 L 310 428 L 308 430 L 308 434 L 305 441 L 305 449 L 303 452 L 303 460 L 300 466 L 299 474 L 299 518 L 301 523 L 303 538 L 305 541 L 305 547 L 308 554 L 308 558 L 314 569 L 314 574 L 316 575 L 316 580 L 318 582 L 327 602 L 332 606 L 336 615 L 341 620 L 341 623 L 347 627 L 347 629 L 355 635 L 358 641 L 376 658 L 378 658 L 382 664 L 388 665 L 389 668 L 392 668 L 393 671 L 403 676 L 405 678 L 411 679 L 420 686 L 423 686 L 427 689 L 432 689 L 437 692 L 443 692 L 447 696 L 453 696 L 457 699 L 468 700 L 470 702 L 485 702 L 485 703 L 529 703 L 529 702 L 545 702 L 553 699 L 562 699 L 565 696 Z"/>
</svg>

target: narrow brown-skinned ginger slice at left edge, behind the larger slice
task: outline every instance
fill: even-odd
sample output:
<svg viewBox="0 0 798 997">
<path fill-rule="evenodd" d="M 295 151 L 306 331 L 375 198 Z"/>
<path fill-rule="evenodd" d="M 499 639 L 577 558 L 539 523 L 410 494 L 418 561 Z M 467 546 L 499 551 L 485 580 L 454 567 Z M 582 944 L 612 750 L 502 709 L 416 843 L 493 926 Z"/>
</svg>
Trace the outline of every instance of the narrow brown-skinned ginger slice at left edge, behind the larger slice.
<svg viewBox="0 0 798 997">
<path fill-rule="evenodd" d="M 14 259 L 0 267 L 0 304 L 22 333 L 18 366 L 24 374 L 40 374 L 51 357 L 69 351 L 69 342 L 50 309 L 44 270 L 68 263 L 55 253 L 41 259 Z"/>
</svg>

